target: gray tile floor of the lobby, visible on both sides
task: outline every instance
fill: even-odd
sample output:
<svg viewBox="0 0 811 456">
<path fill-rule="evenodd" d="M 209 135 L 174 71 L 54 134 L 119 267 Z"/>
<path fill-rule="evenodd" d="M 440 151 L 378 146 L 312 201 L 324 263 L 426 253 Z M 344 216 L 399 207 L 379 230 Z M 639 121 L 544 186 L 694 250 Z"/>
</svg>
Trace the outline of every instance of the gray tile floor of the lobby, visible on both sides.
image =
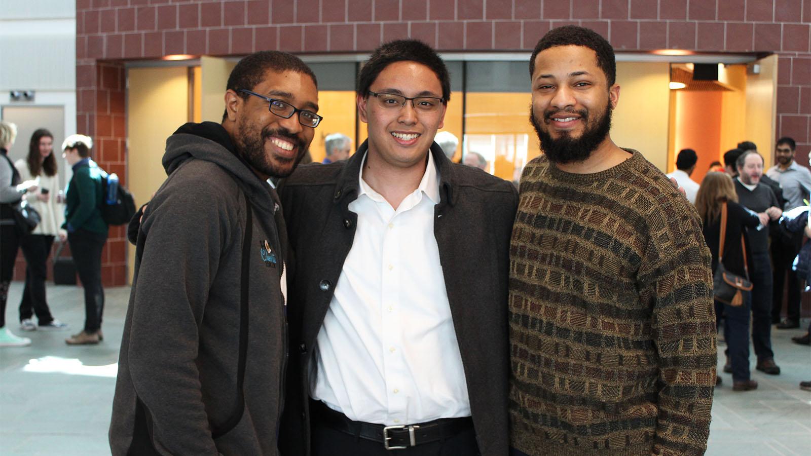
<svg viewBox="0 0 811 456">
<path fill-rule="evenodd" d="M 6 311 L 11 329 L 16 329 L 20 294 L 21 286 L 15 283 Z M 65 345 L 64 338 L 78 332 L 84 321 L 82 290 L 49 286 L 54 316 L 71 328 L 25 333 L 32 338 L 31 346 L 0 349 L 0 454 L 109 454 L 107 427 L 129 288 L 108 289 L 106 296 L 105 341 L 100 345 Z M 766 376 L 753 370 L 753 378 L 760 383 L 757 391 L 734 393 L 732 379 L 722 374 L 724 384 L 715 392 L 707 454 L 809 454 L 811 392 L 801 391 L 798 384 L 811 380 L 811 348 L 792 344 L 791 336 L 799 333 L 774 331 L 783 373 Z M 719 363 L 723 364 L 723 356 Z"/>
</svg>

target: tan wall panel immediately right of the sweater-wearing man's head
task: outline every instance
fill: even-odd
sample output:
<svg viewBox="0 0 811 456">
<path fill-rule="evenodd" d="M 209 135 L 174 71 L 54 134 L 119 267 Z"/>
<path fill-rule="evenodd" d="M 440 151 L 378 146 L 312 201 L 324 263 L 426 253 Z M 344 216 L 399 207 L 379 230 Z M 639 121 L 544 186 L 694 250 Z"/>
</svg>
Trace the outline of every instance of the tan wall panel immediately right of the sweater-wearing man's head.
<svg viewBox="0 0 811 456">
<path fill-rule="evenodd" d="M 611 140 L 634 148 L 667 171 L 670 117 L 670 64 L 617 62 L 620 101 L 614 110 Z"/>
</svg>

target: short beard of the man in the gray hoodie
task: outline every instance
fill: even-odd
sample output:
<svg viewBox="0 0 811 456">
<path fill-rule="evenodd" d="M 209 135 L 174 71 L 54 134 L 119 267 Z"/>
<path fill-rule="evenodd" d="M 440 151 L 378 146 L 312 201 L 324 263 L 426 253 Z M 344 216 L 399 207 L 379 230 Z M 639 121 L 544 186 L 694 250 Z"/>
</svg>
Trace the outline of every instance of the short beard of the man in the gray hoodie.
<svg viewBox="0 0 811 456">
<path fill-rule="evenodd" d="M 279 128 L 277 130 L 264 128 L 259 138 L 255 137 L 254 131 L 251 131 L 251 128 L 246 123 L 242 123 L 238 131 L 240 137 L 240 140 L 237 141 L 238 153 L 245 158 L 253 169 L 270 177 L 281 179 L 293 174 L 293 170 L 298 166 L 298 162 L 302 161 L 304 154 L 307 153 L 307 145 L 304 144 L 304 141 L 290 133 L 286 128 Z M 295 144 L 295 147 L 298 148 L 298 155 L 295 158 L 276 157 L 277 161 L 281 161 L 282 164 L 290 163 L 291 166 L 282 167 L 274 165 L 272 161 L 268 159 L 267 155 L 265 155 L 264 143 L 271 136 L 279 136 L 290 140 Z"/>
</svg>

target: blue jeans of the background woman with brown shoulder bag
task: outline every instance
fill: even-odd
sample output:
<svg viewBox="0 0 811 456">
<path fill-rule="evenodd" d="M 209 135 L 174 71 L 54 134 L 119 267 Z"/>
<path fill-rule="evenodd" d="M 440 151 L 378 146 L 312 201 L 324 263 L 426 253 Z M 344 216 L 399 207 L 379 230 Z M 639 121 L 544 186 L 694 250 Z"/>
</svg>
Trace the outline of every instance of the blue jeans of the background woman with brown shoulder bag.
<svg viewBox="0 0 811 456">
<path fill-rule="evenodd" d="M 738 307 L 715 301 L 715 308 L 723 307 L 723 338 L 727 341 L 727 358 L 732 364 L 732 380 L 749 380 L 749 311 L 752 293 L 744 295 Z"/>
</svg>

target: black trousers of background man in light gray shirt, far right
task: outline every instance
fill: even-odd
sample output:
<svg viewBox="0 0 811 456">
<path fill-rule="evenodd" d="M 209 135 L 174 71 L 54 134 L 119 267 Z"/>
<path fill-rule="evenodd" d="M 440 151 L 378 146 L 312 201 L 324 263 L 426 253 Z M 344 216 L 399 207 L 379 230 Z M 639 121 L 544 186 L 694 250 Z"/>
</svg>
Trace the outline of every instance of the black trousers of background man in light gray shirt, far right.
<svg viewBox="0 0 811 456">
<path fill-rule="evenodd" d="M 786 277 L 788 277 L 786 320 L 800 321 L 800 281 L 796 271 L 792 271 L 792 264 L 800 252 L 802 241 L 802 236 L 799 239 L 783 239 L 778 236 L 771 242 L 771 260 L 775 268 L 771 300 L 771 317 L 774 321 L 780 319 L 780 311 L 783 310 L 783 284 Z"/>
</svg>

